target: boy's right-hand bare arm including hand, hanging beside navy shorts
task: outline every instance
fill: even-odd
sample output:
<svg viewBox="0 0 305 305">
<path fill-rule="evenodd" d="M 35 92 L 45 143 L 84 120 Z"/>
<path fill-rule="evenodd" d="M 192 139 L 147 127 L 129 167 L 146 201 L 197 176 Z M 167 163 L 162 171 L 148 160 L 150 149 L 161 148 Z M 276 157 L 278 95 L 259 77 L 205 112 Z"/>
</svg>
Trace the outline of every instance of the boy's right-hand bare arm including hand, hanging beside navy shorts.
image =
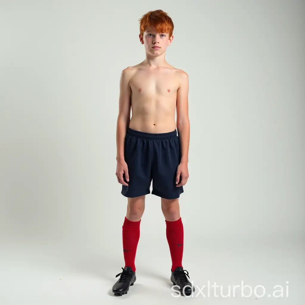
<svg viewBox="0 0 305 305">
<path fill-rule="evenodd" d="M 177 130 L 180 140 L 181 161 L 177 169 L 176 184 L 181 175 L 181 182 L 185 185 L 188 179 L 188 149 L 190 141 L 190 122 L 188 118 L 188 74 L 184 71 L 180 75 L 180 86 L 177 91 Z"/>
</svg>

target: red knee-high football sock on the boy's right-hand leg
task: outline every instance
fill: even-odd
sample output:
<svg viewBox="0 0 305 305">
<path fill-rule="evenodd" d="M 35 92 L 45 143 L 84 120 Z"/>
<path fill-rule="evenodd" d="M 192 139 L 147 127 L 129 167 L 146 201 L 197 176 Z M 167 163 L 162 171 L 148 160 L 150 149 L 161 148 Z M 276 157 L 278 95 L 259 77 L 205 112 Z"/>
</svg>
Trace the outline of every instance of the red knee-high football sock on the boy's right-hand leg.
<svg viewBox="0 0 305 305">
<path fill-rule="evenodd" d="M 172 268 L 182 267 L 183 256 L 183 224 L 181 217 L 176 221 L 167 221 L 166 223 L 166 238 L 170 247 L 170 256 L 172 259 Z"/>
</svg>

